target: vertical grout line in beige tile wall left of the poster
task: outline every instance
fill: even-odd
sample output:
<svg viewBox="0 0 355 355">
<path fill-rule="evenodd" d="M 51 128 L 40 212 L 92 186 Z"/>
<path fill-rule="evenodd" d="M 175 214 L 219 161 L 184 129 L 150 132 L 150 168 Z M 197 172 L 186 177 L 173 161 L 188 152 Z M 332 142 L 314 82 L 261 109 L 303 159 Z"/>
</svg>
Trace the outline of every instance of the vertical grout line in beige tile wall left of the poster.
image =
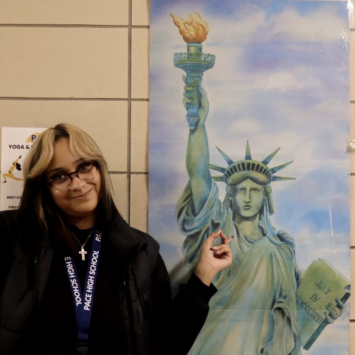
<svg viewBox="0 0 355 355">
<path fill-rule="evenodd" d="M 132 0 L 128 1 L 127 223 L 131 224 Z"/>
</svg>

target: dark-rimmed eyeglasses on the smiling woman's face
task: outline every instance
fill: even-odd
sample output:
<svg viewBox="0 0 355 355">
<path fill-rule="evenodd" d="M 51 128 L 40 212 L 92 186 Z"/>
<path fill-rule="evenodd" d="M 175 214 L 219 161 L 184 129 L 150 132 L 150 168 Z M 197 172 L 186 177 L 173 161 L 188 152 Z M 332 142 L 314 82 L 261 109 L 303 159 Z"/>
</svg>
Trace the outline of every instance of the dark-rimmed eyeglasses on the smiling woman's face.
<svg viewBox="0 0 355 355">
<path fill-rule="evenodd" d="M 74 174 L 77 178 L 84 182 L 90 182 L 97 176 L 98 164 L 97 163 L 82 163 L 78 170 L 69 174 L 58 173 L 54 174 L 50 181 L 47 182 L 48 186 L 53 187 L 57 192 L 65 192 L 70 189 Z"/>
</svg>

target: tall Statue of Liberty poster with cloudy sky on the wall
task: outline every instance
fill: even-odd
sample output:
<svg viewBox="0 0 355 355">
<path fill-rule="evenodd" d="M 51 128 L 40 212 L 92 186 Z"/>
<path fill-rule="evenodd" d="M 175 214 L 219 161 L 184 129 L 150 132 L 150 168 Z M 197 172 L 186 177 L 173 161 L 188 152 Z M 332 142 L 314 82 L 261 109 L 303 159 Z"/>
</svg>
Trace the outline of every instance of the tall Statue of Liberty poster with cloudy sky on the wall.
<svg viewBox="0 0 355 355">
<path fill-rule="evenodd" d="M 349 353 L 348 27 L 340 1 L 151 0 L 149 233 L 173 293 L 234 236 L 189 355 Z"/>
</svg>

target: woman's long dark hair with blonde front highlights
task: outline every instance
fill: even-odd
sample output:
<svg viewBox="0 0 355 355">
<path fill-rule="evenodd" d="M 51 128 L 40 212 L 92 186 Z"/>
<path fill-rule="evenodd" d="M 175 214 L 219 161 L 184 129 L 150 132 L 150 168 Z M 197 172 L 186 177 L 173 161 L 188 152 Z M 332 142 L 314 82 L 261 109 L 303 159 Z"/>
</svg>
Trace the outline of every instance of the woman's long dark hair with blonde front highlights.
<svg viewBox="0 0 355 355">
<path fill-rule="evenodd" d="M 94 160 L 101 175 L 99 209 L 102 216 L 112 217 L 115 210 L 112 199 L 112 184 L 107 163 L 94 140 L 80 128 L 70 124 L 59 124 L 42 132 L 27 155 L 24 166 L 24 190 L 19 214 L 27 219 L 31 210 L 40 227 L 48 229 L 50 225 L 65 229 L 61 212 L 55 206 L 48 193 L 45 170 L 54 152 L 54 144 L 60 138 L 69 139 L 70 151 L 77 157 Z"/>
</svg>

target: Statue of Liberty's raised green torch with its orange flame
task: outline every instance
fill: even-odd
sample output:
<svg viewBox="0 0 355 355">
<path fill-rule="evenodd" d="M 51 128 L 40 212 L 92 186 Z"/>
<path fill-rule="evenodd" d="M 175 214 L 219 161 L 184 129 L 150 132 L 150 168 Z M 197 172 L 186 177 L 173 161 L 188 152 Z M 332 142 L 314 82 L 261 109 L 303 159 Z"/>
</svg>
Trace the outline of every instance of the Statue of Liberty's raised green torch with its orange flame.
<svg viewBox="0 0 355 355">
<path fill-rule="evenodd" d="M 214 65 L 215 56 L 213 54 L 202 53 L 202 42 L 206 39 L 208 25 L 201 16 L 194 12 L 190 14 L 185 21 L 181 17 L 175 17 L 172 13 L 174 23 L 179 27 L 179 32 L 187 43 L 187 53 L 174 54 L 174 66 L 181 68 L 186 72 L 186 85 L 195 89 L 192 95 L 192 102 L 187 104 L 186 120 L 191 130 L 195 129 L 198 115 L 198 103 L 200 102 L 200 93 L 198 87 L 201 85 L 203 72 Z"/>
</svg>

